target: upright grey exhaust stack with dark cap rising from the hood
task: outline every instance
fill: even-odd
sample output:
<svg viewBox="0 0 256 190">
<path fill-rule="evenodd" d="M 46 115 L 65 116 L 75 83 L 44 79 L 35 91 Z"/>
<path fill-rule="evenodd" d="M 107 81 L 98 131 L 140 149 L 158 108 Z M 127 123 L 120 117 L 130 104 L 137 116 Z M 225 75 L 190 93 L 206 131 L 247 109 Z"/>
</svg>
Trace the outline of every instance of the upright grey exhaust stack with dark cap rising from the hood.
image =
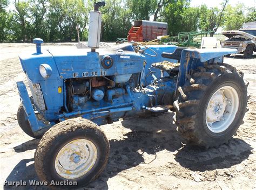
<svg viewBox="0 0 256 190">
<path fill-rule="evenodd" d="M 99 48 L 100 31 L 102 26 L 102 12 L 99 11 L 100 6 L 105 6 L 105 2 L 95 2 L 94 10 L 90 11 L 88 47 L 92 52 Z"/>
</svg>

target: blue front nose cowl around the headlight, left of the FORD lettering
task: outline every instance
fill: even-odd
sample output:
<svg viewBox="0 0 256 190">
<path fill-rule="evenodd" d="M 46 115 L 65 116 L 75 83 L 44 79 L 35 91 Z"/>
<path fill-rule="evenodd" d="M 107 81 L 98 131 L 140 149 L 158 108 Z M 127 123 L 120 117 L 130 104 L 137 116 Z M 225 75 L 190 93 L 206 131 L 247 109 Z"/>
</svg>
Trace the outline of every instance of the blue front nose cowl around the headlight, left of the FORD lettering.
<svg viewBox="0 0 256 190">
<path fill-rule="evenodd" d="M 43 51 L 42 54 L 34 53 L 26 57 L 21 55 L 20 59 L 26 75 L 29 76 L 28 80 L 32 83 L 40 83 L 46 105 L 46 110 L 41 114 L 48 120 L 55 119 L 58 111 L 63 107 L 63 80 L 60 78 L 52 55 L 48 51 Z M 48 79 L 44 79 L 39 73 L 39 66 L 41 64 L 48 64 L 52 68 L 52 74 Z M 61 93 L 58 92 L 59 87 L 62 88 Z M 33 88 L 31 87 L 30 90 L 33 95 Z"/>
</svg>

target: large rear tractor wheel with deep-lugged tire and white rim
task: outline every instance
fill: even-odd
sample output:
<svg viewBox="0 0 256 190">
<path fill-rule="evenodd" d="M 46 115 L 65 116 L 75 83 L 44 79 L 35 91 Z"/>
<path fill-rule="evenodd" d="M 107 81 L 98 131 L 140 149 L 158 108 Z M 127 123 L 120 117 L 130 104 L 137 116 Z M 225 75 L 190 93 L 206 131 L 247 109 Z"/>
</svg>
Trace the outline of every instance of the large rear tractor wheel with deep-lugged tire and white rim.
<svg viewBox="0 0 256 190">
<path fill-rule="evenodd" d="M 174 121 L 194 144 L 217 147 L 236 134 L 247 111 L 247 85 L 242 73 L 227 64 L 207 65 L 186 82 Z"/>
</svg>

